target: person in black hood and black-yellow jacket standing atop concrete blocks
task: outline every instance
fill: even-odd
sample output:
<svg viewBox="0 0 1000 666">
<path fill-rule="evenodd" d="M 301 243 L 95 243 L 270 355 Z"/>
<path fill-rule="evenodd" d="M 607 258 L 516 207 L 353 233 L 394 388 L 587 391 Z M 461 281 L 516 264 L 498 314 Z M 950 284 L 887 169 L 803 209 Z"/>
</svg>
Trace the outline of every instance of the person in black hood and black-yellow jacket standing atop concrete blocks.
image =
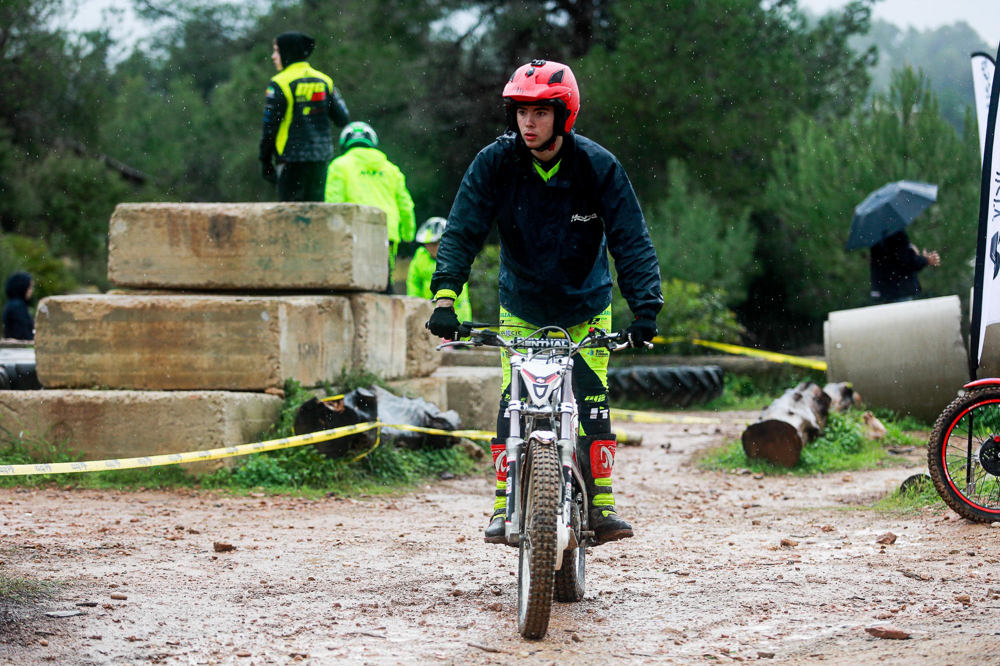
<svg viewBox="0 0 1000 666">
<path fill-rule="evenodd" d="M 323 201 L 333 159 L 330 121 L 341 127 L 350 122 L 333 81 L 306 62 L 315 45 L 301 32 L 282 33 L 273 43 L 278 74 L 267 87 L 259 157 L 261 174 L 277 183 L 281 201 Z"/>
</svg>

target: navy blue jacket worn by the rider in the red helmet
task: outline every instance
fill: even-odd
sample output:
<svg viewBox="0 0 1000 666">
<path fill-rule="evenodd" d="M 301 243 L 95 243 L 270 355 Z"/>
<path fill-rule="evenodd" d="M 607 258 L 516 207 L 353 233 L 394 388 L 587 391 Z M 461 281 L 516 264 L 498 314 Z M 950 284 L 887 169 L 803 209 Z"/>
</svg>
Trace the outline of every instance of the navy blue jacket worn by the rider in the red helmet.
<svg viewBox="0 0 1000 666">
<path fill-rule="evenodd" d="M 557 157 L 546 182 L 512 132 L 479 152 L 448 215 L 431 292 L 461 292 L 496 220 L 500 305 L 510 313 L 564 328 L 600 314 L 611 303 L 610 251 L 632 314 L 655 319 L 660 267 L 622 165 L 579 134 L 564 138 Z"/>
</svg>

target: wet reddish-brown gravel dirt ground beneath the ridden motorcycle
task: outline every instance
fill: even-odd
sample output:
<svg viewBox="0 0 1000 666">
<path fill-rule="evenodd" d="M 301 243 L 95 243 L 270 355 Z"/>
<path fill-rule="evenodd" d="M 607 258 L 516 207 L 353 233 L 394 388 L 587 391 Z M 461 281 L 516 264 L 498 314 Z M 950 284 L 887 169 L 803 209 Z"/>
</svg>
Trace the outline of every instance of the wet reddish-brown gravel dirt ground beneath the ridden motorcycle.
<svg viewBox="0 0 1000 666">
<path fill-rule="evenodd" d="M 0 573 L 62 583 L 0 606 L 0 662 L 1000 663 L 1000 529 L 863 508 L 915 469 L 692 466 L 752 416 L 629 426 L 645 444 L 619 449 L 615 490 L 636 537 L 592 549 L 586 599 L 531 642 L 516 551 L 481 541 L 485 473 L 320 500 L 0 490 Z"/>
</svg>

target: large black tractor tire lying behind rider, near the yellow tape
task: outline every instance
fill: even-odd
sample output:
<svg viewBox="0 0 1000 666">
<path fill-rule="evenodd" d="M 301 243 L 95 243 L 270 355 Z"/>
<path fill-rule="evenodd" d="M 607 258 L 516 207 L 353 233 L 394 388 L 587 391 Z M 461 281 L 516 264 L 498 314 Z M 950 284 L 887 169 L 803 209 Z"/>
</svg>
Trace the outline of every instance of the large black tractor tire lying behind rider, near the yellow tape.
<svg viewBox="0 0 1000 666">
<path fill-rule="evenodd" d="M 722 395 L 723 372 L 717 365 L 610 368 L 612 398 L 653 398 L 665 407 L 702 405 Z"/>
</svg>

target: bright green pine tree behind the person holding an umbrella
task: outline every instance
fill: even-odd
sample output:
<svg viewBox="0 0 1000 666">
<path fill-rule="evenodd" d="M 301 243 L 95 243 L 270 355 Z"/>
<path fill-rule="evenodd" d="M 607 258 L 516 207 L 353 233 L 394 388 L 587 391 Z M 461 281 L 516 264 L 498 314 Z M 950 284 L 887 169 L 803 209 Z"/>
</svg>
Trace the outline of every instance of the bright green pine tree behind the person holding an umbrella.
<svg viewBox="0 0 1000 666">
<path fill-rule="evenodd" d="M 867 252 L 845 253 L 852 212 L 870 192 L 896 180 L 940 186 L 938 203 L 911 227 L 942 266 L 920 279 L 929 295 L 972 285 L 979 202 L 979 148 L 971 122 L 959 135 L 942 115 L 927 78 L 897 71 L 889 93 L 851 117 L 824 124 L 800 118 L 775 152 L 766 204 L 773 217 L 758 258 L 766 276 L 787 290 L 781 312 L 822 321 L 831 310 L 870 304 Z M 780 239 L 780 242 L 779 240 Z"/>
</svg>

